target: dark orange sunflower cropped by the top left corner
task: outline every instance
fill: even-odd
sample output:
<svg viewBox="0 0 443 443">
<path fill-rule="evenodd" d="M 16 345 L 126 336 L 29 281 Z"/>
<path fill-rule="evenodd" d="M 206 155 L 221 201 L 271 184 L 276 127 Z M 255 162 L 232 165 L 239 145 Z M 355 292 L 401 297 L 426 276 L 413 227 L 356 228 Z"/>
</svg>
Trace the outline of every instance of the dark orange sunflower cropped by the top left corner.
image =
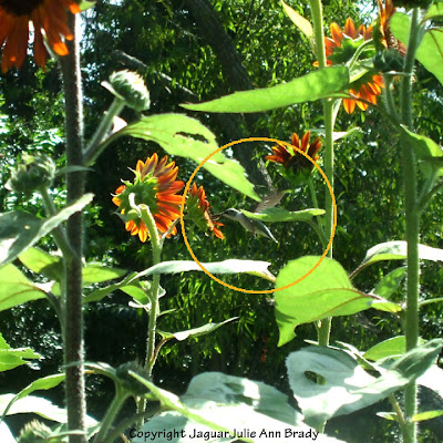
<svg viewBox="0 0 443 443">
<path fill-rule="evenodd" d="M 66 55 L 68 48 L 62 37 L 73 39 L 66 24 L 66 9 L 72 13 L 80 12 L 74 0 L 0 0 L 0 48 L 4 44 L 1 70 L 7 72 L 23 64 L 30 21 L 34 28 L 33 50 L 38 66 L 44 66 L 48 55 L 42 31 L 50 47 L 59 55 Z"/>
</svg>

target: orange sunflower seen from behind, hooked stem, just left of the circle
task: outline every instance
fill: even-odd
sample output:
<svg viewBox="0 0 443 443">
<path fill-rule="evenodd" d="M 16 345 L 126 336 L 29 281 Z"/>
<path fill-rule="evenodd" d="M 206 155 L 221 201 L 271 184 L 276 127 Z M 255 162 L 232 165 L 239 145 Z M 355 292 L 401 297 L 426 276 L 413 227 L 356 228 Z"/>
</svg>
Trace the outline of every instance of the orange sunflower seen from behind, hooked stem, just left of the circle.
<svg viewBox="0 0 443 443">
<path fill-rule="evenodd" d="M 131 231 L 131 235 L 138 234 L 143 243 L 150 233 L 141 218 L 134 218 L 128 197 L 135 194 L 136 205 L 144 204 L 150 207 L 157 229 L 164 234 L 179 217 L 182 196 L 176 193 L 182 190 L 185 184 L 176 181 L 177 173 L 178 166 L 175 166 L 174 162 L 167 163 L 167 155 L 158 161 L 158 155 L 154 153 L 146 162 L 137 162 L 134 183 L 123 182 L 124 185 L 115 190 L 112 202 L 119 206 L 120 214 L 125 219 L 126 230 Z M 168 237 L 175 234 L 177 228 L 174 226 Z"/>
</svg>

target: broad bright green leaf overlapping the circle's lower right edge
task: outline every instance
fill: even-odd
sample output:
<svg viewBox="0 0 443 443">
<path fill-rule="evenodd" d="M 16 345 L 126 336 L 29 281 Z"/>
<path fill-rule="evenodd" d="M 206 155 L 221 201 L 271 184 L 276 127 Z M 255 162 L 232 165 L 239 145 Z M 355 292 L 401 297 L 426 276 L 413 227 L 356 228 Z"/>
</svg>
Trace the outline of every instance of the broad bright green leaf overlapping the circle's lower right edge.
<svg viewBox="0 0 443 443">
<path fill-rule="evenodd" d="M 319 259 L 307 256 L 289 261 L 277 276 L 277 288 L 301 279 Z M 384 301 L 354 289 L 341 265 L 329 258 L 324 258 L 298 284 L 276 292 L 275 300 L 279 346 L 293 339 L 293 329 L 299 324 L 327 317 L 349 316 L 371 308 L 377 301 Z"/>
</svg>

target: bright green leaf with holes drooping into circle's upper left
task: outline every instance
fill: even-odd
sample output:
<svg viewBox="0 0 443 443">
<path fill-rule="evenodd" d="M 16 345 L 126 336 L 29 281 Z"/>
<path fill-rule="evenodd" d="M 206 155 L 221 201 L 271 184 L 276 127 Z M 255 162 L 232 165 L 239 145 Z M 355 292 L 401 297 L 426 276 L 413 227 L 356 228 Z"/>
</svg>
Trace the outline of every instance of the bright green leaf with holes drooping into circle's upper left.
<svg viewBox="0 0 443 443">
<path fill-rule="evenodd" d="M 182 114 L 143 116 L 138 122 L 113 134 L 106 143 L 122 135 L 158 143 L 168 154 L 190 158 L 198 165 L 218 150 L 215 135 L 207 127 Z M 243 166 L 237 161 L 227 158 L 223 152 L 214 154 L 203 167 L 228 186 L 260 200 L 254 185 L 246 178 Z"/>
</svg>

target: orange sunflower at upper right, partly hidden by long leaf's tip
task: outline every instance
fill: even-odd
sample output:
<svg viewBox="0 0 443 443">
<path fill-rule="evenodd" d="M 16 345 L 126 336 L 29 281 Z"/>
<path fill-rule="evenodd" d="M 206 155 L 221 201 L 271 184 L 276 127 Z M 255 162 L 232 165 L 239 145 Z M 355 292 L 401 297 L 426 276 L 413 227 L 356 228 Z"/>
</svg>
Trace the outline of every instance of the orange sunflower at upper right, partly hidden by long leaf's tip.
<svg viewBox="0 0 443 443">
<path fill-rule="evenodd" d="M 352 19 L 347 19 L 343 30 L 337 23 L 332 23 L 330 29 L 332 38 L 324 38 L 328 65 L 348 62 L 354 54 L 358 44 L 372 38 L 372 27 L 365 28 L 361 24 L 356 29 Z M 364 55 L 364 52 L 362 55 Z M 375 105 L 377 96 L 380 95 L 382 87 L 383 78 L 380 74 L 373 74 L 373 72 L 365 73 L 353 82 L 349 90 L 357 99 L 362 99 L 365 102 L 344 99 L 344 111 L 348 114 L 352 114 L 356 110 L 356 104 L 362 111 L 365 111 L 369 105 L 367 102 Z"/>
</svg>

